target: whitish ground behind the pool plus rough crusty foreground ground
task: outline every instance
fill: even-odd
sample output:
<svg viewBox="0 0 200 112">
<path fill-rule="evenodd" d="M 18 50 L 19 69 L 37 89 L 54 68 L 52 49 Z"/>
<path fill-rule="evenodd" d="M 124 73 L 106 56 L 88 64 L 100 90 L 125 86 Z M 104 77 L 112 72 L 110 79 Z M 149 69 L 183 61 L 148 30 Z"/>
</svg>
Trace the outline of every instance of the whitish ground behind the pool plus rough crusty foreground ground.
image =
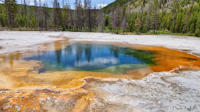
<svg viewBox="0 0 200 112">
<path fill-rule="evenodd" d="M 60 37 L 60 38 L 55 38 Z M 169 35 L 114 35 L 79 32 L 0 32 L 0 53 L 31 48 L 63 37 L 74 41 L 125 42 L 200 54 L 200 39 Z M 172 62 L 173 63 L 173 62 Z M 0 90 L 0 111 L 199 112 L 200 71 L 152 73 L 142 80 L 86 77 L 74 89 Z"/>
</svg>

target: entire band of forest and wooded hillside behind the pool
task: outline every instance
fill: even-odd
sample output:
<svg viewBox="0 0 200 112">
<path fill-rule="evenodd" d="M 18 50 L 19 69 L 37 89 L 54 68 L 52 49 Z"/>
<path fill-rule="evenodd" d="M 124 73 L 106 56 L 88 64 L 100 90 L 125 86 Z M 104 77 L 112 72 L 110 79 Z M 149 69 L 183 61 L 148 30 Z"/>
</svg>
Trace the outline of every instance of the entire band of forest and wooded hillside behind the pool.
<svg viewBox="0 0 200 112">
<path fill-rule="evenodd" d="M 34 0 L 34 6 L 4 0 L 0 26 L 17 30 L 181 33 L 200 36 L 200 0 L 116 0 L 112 8 L 97 9 L 91 0 L 54 0 L 53 8 Z M 136 2 L 137 1 L 137 2 Z M 136 4 L 137 3 L 137 4 Z M 138 4 L 139 3 L 139 4 Z M 138 6 L 137 11 L 130 7 Z"/>
</svg>

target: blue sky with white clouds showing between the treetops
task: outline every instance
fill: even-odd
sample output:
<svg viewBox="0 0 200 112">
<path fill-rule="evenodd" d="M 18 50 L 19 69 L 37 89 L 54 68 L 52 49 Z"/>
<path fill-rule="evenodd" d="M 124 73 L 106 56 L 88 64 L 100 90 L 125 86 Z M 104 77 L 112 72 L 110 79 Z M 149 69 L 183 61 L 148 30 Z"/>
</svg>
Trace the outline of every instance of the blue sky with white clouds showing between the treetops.
<svg viewBox="0 0 200 112">
<path fill-rule="evenodd" d="M 17 3 L 21 4 L 21 2 L 24 0 L 17 0 Z M 29 5 L 33 5 L 34 4 L 34 0 L 26 0 L 27 4 Z M 39 0 L 37 0 L 39 1 Z M 45 2 L 48 4 L 49 7 L 52 7 L 54 0 L 41 0 L 41 2 L 44 4 Z M 58 0 L 60 3 L 62 0 Z M 69 1 L 69 4 L 73 7 L 74 6 L 74 2 L 75 0 L 65 0 L 65 1 Z M 83 0 L 82 0 L 83 1 Z M 115 1 L 115 0 L 91 0 L 92 1 L 92 6 L 96 6 L 97 8 L 106 6 L 107 4 Z"/>
</svg>

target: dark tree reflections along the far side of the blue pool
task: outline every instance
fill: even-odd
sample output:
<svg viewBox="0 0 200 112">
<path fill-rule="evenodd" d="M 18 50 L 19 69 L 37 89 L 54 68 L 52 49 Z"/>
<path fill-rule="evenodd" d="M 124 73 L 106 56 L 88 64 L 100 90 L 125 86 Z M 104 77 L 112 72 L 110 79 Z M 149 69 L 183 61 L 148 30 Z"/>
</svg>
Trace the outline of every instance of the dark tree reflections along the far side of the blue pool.
<svg viewBox="0 0 200 112">
<path fill-rule="evenodd" d="M 58 47 L 58 45 L 56 44 L 55 46 Z M 90 62 L 92 60 L 93 47 L 95 47 L 95 45 L 93 46 L 92 44 L 73 44 L 61 50 L 56 50 L 55 55 L 56 55 L 57 64 L 58 65 L 61 64 L 62 57 L 64 58 L 63 60 L 65 61 L 67 60 L 67 58 L 70 58 L 70 59 L 72 58 L 77 64 L 80 63 L 81 60 L 86 60 Z M 74 52 L 75 55 L 73 55 L 73 50 L 75 51 Z M 116 47 L 112 45 L 106 47 L 105 50 L 106 52 L 107 50 L 109 51 L 109 54 L 106 54 L 106 55 L 113 56 L 115 58 L 119 58 L 120 54 L 124 54 L 128 56 L 133 56 L 134 58 L 137 58 L 146 64 L 154 64 L 152 60 L 153 58 L 152 53 L 148 51 L 134 50 L 134 49 L 129 49 L 129 48 L 120 48 L 120 47 Z M 74 56 L 74 57 L 67 57 L 67 56 Z"/>
</svg>

